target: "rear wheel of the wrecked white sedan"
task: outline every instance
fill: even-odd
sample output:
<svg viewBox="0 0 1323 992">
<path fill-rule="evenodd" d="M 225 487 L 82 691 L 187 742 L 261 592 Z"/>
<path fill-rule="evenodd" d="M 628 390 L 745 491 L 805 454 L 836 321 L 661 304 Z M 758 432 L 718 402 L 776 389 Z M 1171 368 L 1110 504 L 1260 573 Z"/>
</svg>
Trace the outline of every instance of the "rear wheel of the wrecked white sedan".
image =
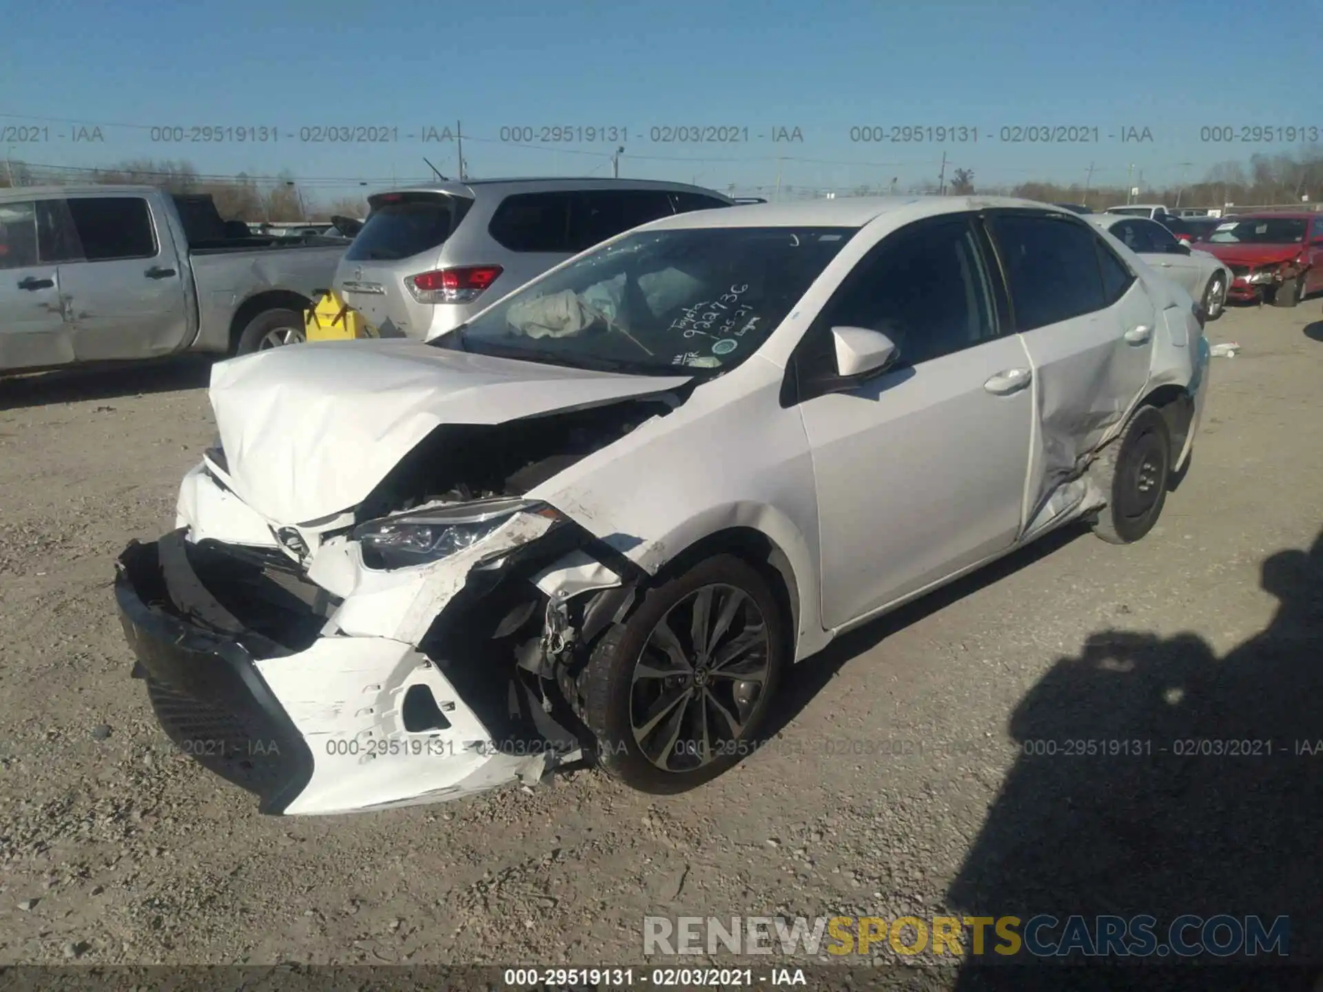
<svg viewBox="0 0 1323 992">
<path fill-rule="evenodd" d="M 1109 544 L 1134 544 L 1154 529 L 1171 480 L 1171 433 L 1155 406 L 1140 406 L 1090 470 L 1107 505 L 1093 532 Z"/>
</svg>

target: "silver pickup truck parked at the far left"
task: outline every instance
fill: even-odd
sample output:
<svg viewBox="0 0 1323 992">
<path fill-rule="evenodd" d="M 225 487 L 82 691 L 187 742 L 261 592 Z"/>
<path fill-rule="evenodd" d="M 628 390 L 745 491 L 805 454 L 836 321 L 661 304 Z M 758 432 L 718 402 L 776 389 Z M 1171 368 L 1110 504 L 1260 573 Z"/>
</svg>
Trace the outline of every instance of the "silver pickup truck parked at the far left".
<svg viewBox="0 0 1323 992">
<path fill-rule="evenodd" d="M 0 189 L 0 372 L 302 339 L 349 241 L 235 224 L 153 186 Z"/>
</svg>

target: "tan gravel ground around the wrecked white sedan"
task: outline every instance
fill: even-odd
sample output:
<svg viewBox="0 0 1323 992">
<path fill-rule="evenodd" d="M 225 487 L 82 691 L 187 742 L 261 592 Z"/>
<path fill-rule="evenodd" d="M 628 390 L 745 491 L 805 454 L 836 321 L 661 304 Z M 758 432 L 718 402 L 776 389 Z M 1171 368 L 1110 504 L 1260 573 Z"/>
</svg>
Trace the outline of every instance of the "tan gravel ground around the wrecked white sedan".
<svg viewBox="0 0 1323 992">
<path fill-rule="evenodd" d="M 112 559 L 214 436 L 206 366 L 0 382 L 0 964 L 622 963 L 647 913 L 945 910 L 1291 914 L 1323 958 L 1323 765 L 1285 753 L 1323 738 L 1318 317 L 1211 325 L 1244 351 L 1146 541 L 1058 534 L 856 632 L 716 783 L 357 817 L 259 816 L 128 679 Z M 1158 754 L 1191 737 L 1277 750 Z M 1154 754 L 1017 751 L 1122 738 Z"/>
</svg>

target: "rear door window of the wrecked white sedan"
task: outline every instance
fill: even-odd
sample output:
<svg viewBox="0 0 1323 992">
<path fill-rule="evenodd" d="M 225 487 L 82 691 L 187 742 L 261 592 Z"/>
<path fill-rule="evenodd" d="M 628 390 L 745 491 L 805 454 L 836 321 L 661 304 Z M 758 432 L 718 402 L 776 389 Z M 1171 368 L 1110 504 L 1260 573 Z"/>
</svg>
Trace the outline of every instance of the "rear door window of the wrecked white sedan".
<svg viewBox="0 0 1323 992">
<path fill-rule="evenodd" d="M 992 237 L 1005 269 L 1017 331 L 1107 306 L 1093 231 L 1064 217 L 1000 214 Z"/>
</svg>

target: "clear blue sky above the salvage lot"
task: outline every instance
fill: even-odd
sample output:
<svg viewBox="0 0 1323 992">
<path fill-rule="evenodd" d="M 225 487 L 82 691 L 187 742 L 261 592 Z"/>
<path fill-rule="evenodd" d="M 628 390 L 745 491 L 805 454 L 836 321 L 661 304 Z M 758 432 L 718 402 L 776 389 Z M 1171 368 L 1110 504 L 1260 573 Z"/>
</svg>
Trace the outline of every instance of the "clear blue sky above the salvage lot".
<svg viewBox="0 0 1323 992">
<path fill-rule="evenodd" d="M 359 180 L 425 177 L 423 156 L 452 176 L 455 144 L 418 135 L 443 135 L 456 120 L 470 175 L 610 175 L 613 143 L 521 148 L 501 128 L 617 127 L 628 131 L 620 175 L 749 192 L 774 186 L 778 172 L 783 186 L 896 177 L 904 189 L 935 180 L 943 151 L 947 177 L 971 168 L 976 184 L 1082 181 L 1090 164 L 1094 185 L 1123 183 L 1131 165 L 1163 184 L 1291 147 L 1204 142 L 1205 126 L 1323 132 L 1323 0 L 1294 4 L 1290 30 L 1267 8 L 1222 0 L 152 8 L 49 0 L 11 19 L 0 128 L 38 140 L 0 131 L 4 151 L 56 165 L 168 157 L 216 175 L 290 169 L 331 196 Z M 1218 37 L 1230 38 L 1233 57 L 1218 57 Z M 87 134 L 99 126 L 103 140 L 73 142 L 79 124 L 67 122 Z M 1097 128 L 1098 140 L 1002 140 L 1003 127 L 1039 124 Z M 273 127 L 279 138 L 167 143 L 152 140 L 152 126 Z M 691 126 L 747 128 L 749 140 L 654 132 Z M 898 126 L 976 128 L 978 139 L 851 140 L 851 128 L 869 126 L 878 136 Z M 376 144 L 300 140 L 318 127 L 394 130 Z M 773 143 L 781 127 L 803 140 Z M 1122 142 L 1130 127 L 1151 140 Z"/>
</svg>

